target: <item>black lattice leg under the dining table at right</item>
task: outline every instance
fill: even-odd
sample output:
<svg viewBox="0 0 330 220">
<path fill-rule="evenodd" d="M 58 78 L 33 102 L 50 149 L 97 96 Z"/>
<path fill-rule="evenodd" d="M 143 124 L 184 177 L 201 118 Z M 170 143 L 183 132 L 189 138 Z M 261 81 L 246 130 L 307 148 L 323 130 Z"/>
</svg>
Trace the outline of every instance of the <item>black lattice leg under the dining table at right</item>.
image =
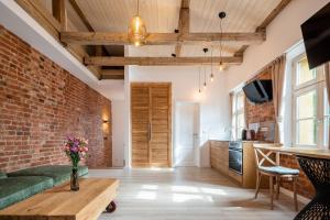
<svg viewBox="0 0 330 220">
<path fill-rule="evenodd" d="M 297 156 L 301 169 L 316 189 L 315 198 L 296 216 L 295 220 L 330 219 L 330 160 Z"/>
</svg>

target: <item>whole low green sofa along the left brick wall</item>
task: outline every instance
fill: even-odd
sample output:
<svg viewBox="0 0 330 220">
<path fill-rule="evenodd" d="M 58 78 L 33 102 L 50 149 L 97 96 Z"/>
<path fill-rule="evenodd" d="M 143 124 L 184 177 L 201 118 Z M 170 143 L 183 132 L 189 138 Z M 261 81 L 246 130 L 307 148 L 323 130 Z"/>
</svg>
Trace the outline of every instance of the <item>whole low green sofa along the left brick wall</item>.
<svg viewBox="0 0 330 220">
<path fill-rule="evenodd" d="M 72 166 L 51 165 L 0 173 L 0 209 L 26 199 L 45 189 L 68 182 Z M 88 174 L 87 166 L 79 166 L 78 175 Z"/>
</svg>

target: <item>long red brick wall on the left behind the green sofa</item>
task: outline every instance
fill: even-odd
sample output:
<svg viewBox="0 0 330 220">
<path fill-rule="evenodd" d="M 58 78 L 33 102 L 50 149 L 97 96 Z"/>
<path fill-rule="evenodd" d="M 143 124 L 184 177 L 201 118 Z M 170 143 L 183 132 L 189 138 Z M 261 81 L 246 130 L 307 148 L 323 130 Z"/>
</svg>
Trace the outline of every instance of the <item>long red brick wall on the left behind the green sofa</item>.
<svg viewBox="0 0 330 220">
<path fill-rule="evenodd" d="M 107 98 L 0 26 L 0 170 L 68 163 L 61 150 L 67 134 L 89 140 L 90 167 L 111 166 L 111 124 L 102 122 L 110 108 Z"/>
</svg>

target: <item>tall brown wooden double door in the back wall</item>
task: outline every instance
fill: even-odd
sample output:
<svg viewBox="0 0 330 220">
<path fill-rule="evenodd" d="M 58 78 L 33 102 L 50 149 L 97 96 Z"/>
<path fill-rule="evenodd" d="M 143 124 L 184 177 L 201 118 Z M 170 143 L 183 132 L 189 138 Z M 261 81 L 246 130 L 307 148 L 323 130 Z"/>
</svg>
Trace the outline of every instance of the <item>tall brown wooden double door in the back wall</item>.
<svg viewBox="0 0 330 220">
<path fill-rule="evenodd" d="M 131 86 L 132 166 L 172 166 L 172 86 Z"/>
</svg>

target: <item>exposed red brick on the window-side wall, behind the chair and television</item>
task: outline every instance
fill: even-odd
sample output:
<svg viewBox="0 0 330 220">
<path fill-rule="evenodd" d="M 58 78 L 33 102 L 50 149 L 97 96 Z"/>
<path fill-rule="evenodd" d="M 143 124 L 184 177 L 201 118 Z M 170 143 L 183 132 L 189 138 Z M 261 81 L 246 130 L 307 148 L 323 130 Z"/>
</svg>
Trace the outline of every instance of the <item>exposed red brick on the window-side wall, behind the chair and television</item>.
<svg viewBox="0 0 330 220">
<path fill-rule="evenodd" d="M 251 80 L 254 79 L 272 79 L 272 75 L 268 72 L 264 72 L 258 74 L 256 77 L 254 77 Z M 251 81 L 249 80 L 249 81 Z M 246 122 L 248 123 L 254 123 L 254 122 L 265 122 L 265 121 L 275 121 L 275 110 L 274 110 L 274 103 L 273 101 L 261 103 L 261 105 L 254 105 L 246 100 Z M 257 135 L 257 138 L 263 135 Z M 258 139 L 260 140 L 260 139 Z M 262 140 L 261 140 L 262 141 Z M 292 168 L 299 168 L 299 164 L 295 156 L 289 155 L 280 155 L 280 164 L 286 167 Z M 282 186 L 286 189 L 293 190 L 290 183 L 283 183 Z M 308 180 L 307 176 L 304 174 L 304 172 L 300 169 L 300 175 L 298 178 L 297 184 L 297 191 L 299 195 L 302 195 L 307 198 L 312 198 L 315 195 L 315 189 L 310 182 Z"/>
</svg>

